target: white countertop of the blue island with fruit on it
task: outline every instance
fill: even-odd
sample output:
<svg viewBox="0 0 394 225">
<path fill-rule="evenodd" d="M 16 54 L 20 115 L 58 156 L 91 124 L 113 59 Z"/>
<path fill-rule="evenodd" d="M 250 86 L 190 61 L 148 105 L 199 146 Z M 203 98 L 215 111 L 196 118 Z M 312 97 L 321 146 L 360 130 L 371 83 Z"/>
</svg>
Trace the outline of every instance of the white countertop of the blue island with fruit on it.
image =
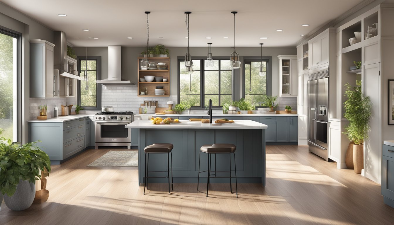
<svg viewBox="0 0 394 225">
<path fill-rule="evenodd" d="M 126 125 L 126 128 L 139 129 L 267 129 L 268 126 L 251 120 L 234 120 L 235 123 L 222 124 L 221 126 L 209 123 L 190 122 L 188 120 L 179 120 L 180 123 L 171 123 L 170 125 L 155 125 L 151 120 L 136 120 Z M 212 121 L 214 123 L 214 121 Z"/>
</svg>

